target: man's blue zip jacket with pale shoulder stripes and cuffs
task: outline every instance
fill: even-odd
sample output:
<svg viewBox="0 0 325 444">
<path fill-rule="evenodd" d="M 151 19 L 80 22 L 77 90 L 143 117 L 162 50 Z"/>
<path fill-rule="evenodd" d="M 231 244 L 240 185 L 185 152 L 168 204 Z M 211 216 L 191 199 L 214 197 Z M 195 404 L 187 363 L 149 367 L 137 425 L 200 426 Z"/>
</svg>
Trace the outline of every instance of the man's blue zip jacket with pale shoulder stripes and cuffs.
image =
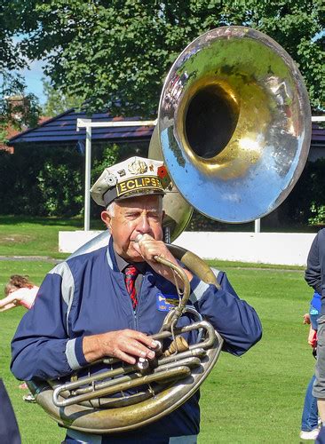
<svg viewBox="0 0 325 444">
<path fill-rule="evenodd" d="M 191 304 L 224 337 L 224 350 L 239 356 L 258 342 L 261 324 L 255 310 L 236 295 L 225 273 L 218 273 L 218 281 L 219 290 L 194 276 Z M 108 248 L 67 259 L 47 274 L 35 305 L 20 321 L 12 340 L 12 373 L 25 380 L 65 377 L 87 363 L 84 336 L 118 329 L 155 334 L 166 315 L 160 297 L 176 294 L 175 287 L 148 266 L 134 313 L 112 241 Z M 197 434 L 198 400 L 196 392 L 171 415 L 139 432 L 145 437 L 157 436 L 157 432 L 162 436 Z"/>
</svg>

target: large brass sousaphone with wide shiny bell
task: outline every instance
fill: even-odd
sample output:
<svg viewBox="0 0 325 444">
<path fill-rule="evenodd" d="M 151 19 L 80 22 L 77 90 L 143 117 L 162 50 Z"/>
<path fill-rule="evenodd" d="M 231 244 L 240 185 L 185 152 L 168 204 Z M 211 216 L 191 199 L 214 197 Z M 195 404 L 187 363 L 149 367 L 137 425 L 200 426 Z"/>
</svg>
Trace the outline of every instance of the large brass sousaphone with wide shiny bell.
<svg viewBox="0 0 325 444">
<path fill-rule="evenodd" d="M 311 113 L 294 61 L 279 44 L 244 27 L 213 29 L 178 56 L 167 75 L 149 157 L 163 159 L 174 184 L 164 199 L 166 239 L 178 237 L 193 207 L 208 218 L 242 223 L 262 218 L 288 196 L 308 155 Z M 73 256 L 107 244 L 107 233 Z M 193 253 L 169 246 L 202 281 L 217 272 Z M 157 260 L 162 260 L 157 258 Z M 208 376 L 222 338 L 193 307 L 184 280 L 178 306 L 154 336 L 159 356 L 135 366 L 107 357 L 107 371 L 70 382 L 31 381 L 36 401 L 59 424 L 91 433 L 123 432 L 149 424 L 183 404 Z M 194 322 L 178 328 L 189 312 Z M 193 312 L 193 313 L 192 313 Z M 196 332 L 194 344 L 183 335 Z M 163 341 L 172 339 L 165 349 Z M 95 363 L 96 364 L 96 363 Z M 134 394 L 129 388 L 139 387 Z"/>
</svg>

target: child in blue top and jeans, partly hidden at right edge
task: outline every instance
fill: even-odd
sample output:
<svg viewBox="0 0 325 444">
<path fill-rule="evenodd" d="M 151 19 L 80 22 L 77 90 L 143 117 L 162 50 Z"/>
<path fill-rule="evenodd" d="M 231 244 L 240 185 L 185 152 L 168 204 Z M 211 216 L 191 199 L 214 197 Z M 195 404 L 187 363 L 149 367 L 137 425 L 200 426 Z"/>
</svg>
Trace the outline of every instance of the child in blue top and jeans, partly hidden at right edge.
<svg viewBox="0 0 325 444">
<path fill-rule="evenodd" d="M 321 313 L 321 296 L 314 292 L 313 299 L 310 304 L 309 313 L 304 315 L 304 324 L 310 324 L 308 334 L 308 344 L 313 347 L 313 355 L 315 356 L 317 345 L 317 319 Z M 300 438 L 303 440 L 315 440 L 320 432 L 318 427 L 318 408 L 317 400 L 313 397 L 313 375 L 305 392 L 305 403 L 303 416 L 301 420 Z"/>
</svg>

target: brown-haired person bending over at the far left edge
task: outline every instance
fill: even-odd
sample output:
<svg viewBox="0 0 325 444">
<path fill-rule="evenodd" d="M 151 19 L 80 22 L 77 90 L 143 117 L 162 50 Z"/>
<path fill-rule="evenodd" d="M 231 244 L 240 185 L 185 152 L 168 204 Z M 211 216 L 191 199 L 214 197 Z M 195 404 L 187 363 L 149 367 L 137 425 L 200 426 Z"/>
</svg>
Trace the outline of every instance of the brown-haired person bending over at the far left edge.
<svg viewBox="0 0 325 444">
<path fill-rule="evenodd" d="M 5 297 L 0 299 L 0 312 L 10 310 L 18 305 L 29 310 L 34 304 L 38 289 L 39 287 L 28 280 L 28 276 L 13 274 L 4 287 Z"/>
</svg>

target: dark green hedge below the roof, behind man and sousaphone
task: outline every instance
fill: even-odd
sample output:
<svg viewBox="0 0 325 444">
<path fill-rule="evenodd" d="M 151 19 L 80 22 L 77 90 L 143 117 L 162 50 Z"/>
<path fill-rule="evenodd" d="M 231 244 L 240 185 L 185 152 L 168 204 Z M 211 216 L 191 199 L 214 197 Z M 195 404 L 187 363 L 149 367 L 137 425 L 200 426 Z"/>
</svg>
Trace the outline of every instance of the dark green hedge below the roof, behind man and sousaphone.
<svg viewBox="0 0 325 444">
<path fill-rule="evenodd" d="M 147 145 L 94 146 L 91 183 L 104 168 L 131 155 L 146 156 Z M 15 147 L 13 155 L 0 151 L 0 214 L 80 216 L 83 188 L 84 156 L 76 148 Z M 99 211 L 96 204 L 91 206 L 92 217 Z M 306 164 L 287 200 L 268 219 L 280 226 L 325 224 L 325 159 Z M 194 211 L 188 229 L 220 231 L 228 226 Z"/>
</svg>

